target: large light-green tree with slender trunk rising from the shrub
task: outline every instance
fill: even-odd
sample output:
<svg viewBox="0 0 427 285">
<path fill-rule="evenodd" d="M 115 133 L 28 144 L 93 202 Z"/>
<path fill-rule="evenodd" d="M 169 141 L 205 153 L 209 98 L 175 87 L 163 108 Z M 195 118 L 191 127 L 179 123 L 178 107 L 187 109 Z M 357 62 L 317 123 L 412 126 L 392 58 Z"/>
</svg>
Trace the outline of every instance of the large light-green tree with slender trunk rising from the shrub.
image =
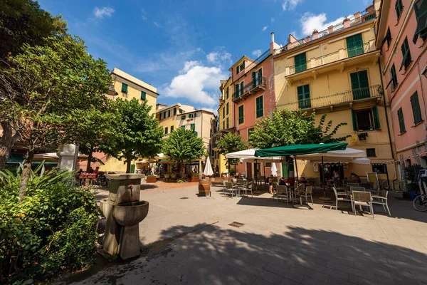
<svg viewBox="0 0 427 285">
<path fill-rule="evenodd" d="M 106 63 L 95 60 L 80 38 L 50 37 L 46 46 L 24 44 L 0 69 L 0 118 L 19 135 L 26 150 L 19 199 L 30 175 L 34 152 L 79 142 L 87 120 L 109 101 Z"/>
</svg>

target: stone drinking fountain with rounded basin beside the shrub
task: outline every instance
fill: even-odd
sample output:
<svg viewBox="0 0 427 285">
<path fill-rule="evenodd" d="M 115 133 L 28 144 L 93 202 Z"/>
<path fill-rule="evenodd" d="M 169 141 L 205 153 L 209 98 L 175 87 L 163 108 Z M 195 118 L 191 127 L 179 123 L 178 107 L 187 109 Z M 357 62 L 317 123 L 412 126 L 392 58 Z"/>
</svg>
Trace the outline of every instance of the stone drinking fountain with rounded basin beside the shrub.
<svg viewBox="0 0 427 285">
<path fill-rule="evenodd" d="M 102 249 L 112 257 L 137 257 L 139 251 L 139 222 L 148 214 L 149 203 L 139 201 L 141 178 L 138 174 L 107 175 L 110 193 L 100 202 L 107 218 Z"/>
</svg>

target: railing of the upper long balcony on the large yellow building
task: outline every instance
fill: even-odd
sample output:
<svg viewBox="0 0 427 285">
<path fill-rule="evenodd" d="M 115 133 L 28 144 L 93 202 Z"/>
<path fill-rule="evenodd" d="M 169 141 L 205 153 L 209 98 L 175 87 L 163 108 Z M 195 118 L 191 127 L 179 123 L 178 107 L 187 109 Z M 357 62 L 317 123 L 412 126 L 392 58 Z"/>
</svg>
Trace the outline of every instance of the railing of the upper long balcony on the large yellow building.
<svg viewBox="0 0 427 285">
<path fill-rule="evenodd" d="M 285 68 L 285 76 L 291 76 L 295 73 L 300 73 L 302 71 L 307 71 L 308 69 L 323 66 L 328 63 L 333 63 L 335 61 L 341 61 L 345 58 L 352 58 L 354 56 L 359 56 L 363 53 L 368 53 L 369 51 L 374 51 L 374 40 L 364 43 L 362 46 L 356 46 L 354 48 L 341 48 L 334 53 L 328 53 L 325 56 L 319 56 L 318 58 L 311 58 L 307 61 L 305 66 L 287 66 Z"/>
</svg>

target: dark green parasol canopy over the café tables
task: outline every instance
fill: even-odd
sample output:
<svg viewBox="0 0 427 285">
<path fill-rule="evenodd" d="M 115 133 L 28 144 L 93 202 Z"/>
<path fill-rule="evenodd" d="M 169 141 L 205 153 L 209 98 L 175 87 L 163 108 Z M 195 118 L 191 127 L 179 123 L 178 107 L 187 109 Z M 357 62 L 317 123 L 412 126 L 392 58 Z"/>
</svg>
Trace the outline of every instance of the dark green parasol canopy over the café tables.
<svg viewBox="0 0 427 285">
<path fill-rule="evenodd" d="M 255 156 L 290 156 L 290 155 L 309 155 L 311 153 L 329 152 L 332 150 L 345 150 L 347 142 L 320 143 L 311 145 L 283 145 L 281 147 L 265 148 L 264 150 L 255 150 Z M 298 157 L 299 158 L 299 157 Z"/>
</svg>

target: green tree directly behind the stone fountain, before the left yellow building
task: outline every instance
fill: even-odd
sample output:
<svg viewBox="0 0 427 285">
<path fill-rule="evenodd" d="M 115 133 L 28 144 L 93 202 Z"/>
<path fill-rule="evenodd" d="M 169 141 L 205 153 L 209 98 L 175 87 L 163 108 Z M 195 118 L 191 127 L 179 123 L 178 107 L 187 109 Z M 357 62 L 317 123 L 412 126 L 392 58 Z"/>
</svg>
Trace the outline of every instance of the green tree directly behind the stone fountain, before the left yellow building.
<svg viewBox="0 0 427 285">
<path fill-rule="evenodd" d="M 137 157 L 152 157 L 162 150 L 163 129 L 159 121 L 150 115 L 151 106 L 139 100 L 118 98 L 113 105 L 117 110 L 115 142 L 102 145 L 100 150 L 126 162 L 126 172 L 130 172 L 132 160 Z"/>
</svg>

